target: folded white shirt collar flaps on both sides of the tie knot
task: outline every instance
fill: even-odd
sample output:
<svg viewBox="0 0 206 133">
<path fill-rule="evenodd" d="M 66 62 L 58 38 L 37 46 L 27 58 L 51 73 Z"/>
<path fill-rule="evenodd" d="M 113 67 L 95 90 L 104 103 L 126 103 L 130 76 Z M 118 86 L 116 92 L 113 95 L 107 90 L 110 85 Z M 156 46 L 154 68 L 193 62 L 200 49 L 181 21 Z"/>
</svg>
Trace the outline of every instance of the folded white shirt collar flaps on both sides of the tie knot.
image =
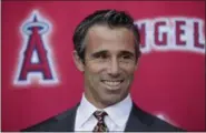
<svg viewBox="0 0 206 133">
<path fill-rule="evenodd" d="M 131 106 L 133 106 L 130 94 L 128 94 L 122 101 L 104 109 L 104 111 L 108 113 L 108 116 L 111 119 L 112 122 L 115 122 L 118 126 L 122 126 L 129 117 Z M 82 94 L 82 99 L 78 109 L 79 120 L 77 117 L 79 127 L 82 126 L 82 124 L 87 122 L 88 119 L 92 116 L 92 113 L 97 110 L 100 109 L 94 106 L 86 99 L 85 94 Z"/>
</svg>

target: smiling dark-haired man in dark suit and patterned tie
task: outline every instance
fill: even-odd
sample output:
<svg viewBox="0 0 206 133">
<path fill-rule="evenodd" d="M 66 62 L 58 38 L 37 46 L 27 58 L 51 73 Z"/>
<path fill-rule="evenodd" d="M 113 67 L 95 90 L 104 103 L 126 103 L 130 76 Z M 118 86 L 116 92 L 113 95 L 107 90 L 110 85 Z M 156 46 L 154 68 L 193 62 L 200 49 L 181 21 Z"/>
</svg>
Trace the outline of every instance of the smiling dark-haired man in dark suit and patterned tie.
<svg viewBox="0 0 206 133">
<path fill-rule="evenodd" d="M 182 131 L 130 98 L 139 42 L 139 31 L 124 11 L 99 10 L 85 18 L 73 34 L 73 61 L 85 78 L 80 103 L 22 131 Z"/>
</svg>

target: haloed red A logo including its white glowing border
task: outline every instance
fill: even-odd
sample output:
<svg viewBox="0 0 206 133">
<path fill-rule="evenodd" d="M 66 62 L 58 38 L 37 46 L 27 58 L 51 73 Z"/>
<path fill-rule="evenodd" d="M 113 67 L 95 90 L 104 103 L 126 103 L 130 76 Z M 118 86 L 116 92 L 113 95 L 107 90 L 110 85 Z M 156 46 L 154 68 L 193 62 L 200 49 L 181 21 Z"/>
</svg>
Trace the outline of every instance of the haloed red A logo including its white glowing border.
<svg viewBox="0 0 206 133">
<path fill-rule="evenodd" d="M 14 84 L 58 83 L 55 71 L 51 45 L 48 33 L 51 24 L 38 11 L 33 11 L 20 28 L 23 35 L 23 48 L 20 52 Z"/>
</svg>

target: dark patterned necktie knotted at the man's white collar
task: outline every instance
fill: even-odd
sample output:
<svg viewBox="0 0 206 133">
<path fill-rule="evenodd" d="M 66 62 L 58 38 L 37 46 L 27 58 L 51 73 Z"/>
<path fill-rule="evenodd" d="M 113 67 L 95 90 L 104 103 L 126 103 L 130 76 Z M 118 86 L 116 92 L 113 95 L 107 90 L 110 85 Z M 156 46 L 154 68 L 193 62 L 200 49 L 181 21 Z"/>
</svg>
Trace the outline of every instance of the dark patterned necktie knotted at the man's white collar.
<svg viewBox="0 0 206 133">
<path fill-rule="evenodd" d="M 97 125 L 94 127 L 94 132 L 108 132 L 109 130 L 104 121 L 105 116 L 108 114 L 104 111 L 96 111 L 94 115 L 98 120 Z"/>
</svg>

